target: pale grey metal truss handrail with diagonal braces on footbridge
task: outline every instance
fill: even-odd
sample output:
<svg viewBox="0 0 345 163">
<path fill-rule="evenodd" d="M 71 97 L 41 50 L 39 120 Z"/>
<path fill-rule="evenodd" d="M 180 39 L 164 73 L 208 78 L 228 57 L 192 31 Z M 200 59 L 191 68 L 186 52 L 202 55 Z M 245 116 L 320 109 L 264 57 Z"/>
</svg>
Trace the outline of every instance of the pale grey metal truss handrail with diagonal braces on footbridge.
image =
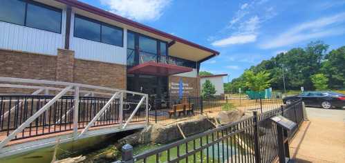
<svg viewBox="0 0 345 163">
<path fill-rule="evenodd" d="M 0 142 L 0 151 L 1 151 L 1 148 L 3 148 L 4 146 L 6 146 L 6 144 L 8 144 L 8 142 L 10 142 L 11 140 L 18 140 L 18 139 L 22 139 L 22 138 L 26 138 L 26 137 L 32 137 L 32 136 L 38 136 L 38 135 L 44 135 L 44 134 L 50 134 L 50 128 L 53 126 L 54 127 L 54 133 L 55 132 L 62 132 L 62 131 L 68 131 L 70 129 L 73 130 L 73 139 L 74 140 L 77 140 L 79 138 L 83 138 L 84 136 L 83 135 L 86 135 L 86 132 L 88 132 L 89 128 L 91 128 L 92 126 L 95 125 L 95 122 L 96 121 L 100 121 L 100 117 L 102 115 L 104 115 L 105 113 L 107 113 L 107 111 L 109 110 L 110 105 L 113 104 L 113 101 L 114 99 L 116 98 L 120 98 L 120 101 L 116 101 L 115 104 L 118 105 L 119 104 L 119 112 L 116 111 L 114 112 L 115 114 L 118 114 L 120 113 L 118 116 L 119 119 L 122 119 L 123 118 L 123 114 L 122 114 L 122 110 L 123 110 L 123 105 L 124 104 L 138 104 L 138 103 L 133 103 L 133 102 L 124 102 L 124 93 L 129 93 L 129 94 L 132 94 L 132 95 L 140 95 L 142 96 L 142 100 L 139 102 L 138 106 L 136 107 L 136 110 L 133 111 L 133 113 L 131 114 L 131 117 L 129 118 L 129 120 L 126 122 L 126 124 L 124 125 L 123 128 L 125 128 L 129 122 L 131 121 L 131 119 L 134 117 L 134 115 L 136 114 L 136 112 L 138 111 L 138 108 L 140 108 L 140 106 L 142 105 L 142 101 L 143 99 L 145 99 L 145 97 L 148 97 L 147 94 L 144 94 L 144 93 L 136 93 L 136 92 L 133 92 L 133 91 L 129 91 L 129 90 L 120 90 L 120 89 L 117 89 L 117 88 L 106 88 L 106 87 L 103 87 L 103 86 L 93 86 L 93 85 L 87 85 L 87 84 L 76 84 L 76 83 L 69 83 L 69 82 L 64 82 L 64 81 L 48 81 L 48 80 L 39 80 L 39 79 L 20 79 L 20 78 L 12 78 L 12 77 L 0 77 L 0 88 L 3 87 L 3 88 L 30 88 L 30 89 L 38 89 L 38 90 L 35 90 L 34 93 L 32 93 L 32 97 L 35 97 L 37 96 L 38 99 L 33 99 L 30 100 L 30 102 L 40 102 L 40 98 L 43 97 L 44 98 L 44 106 L 42 104 L 41 105 L 37 105 L 35 104 L 35 108 L 36 108 L 36 111 L 33 115 L 29 115 L 28 116 L 28 119 L 26 119 L 26 117 L 24 118 L 23 121 L 18 121 L 18 122 L 15 122 L 16 126 L 14 126 L 14 128 L 10 128 L 10 126 L 6 126 L 7 128 L 7 137 L 2 140 Z M 23 84 L 23 85 L 21 85 Z M 24 85 L 25 84 L 25 85 Z M 41 85 L 44 85 L 44 86 L 41 86 Z M 84 89 L 84 90 L 82 90 Z M 42 91 L 46 90 L 46 95 L 39 95 L 42 93 Z M 59 91 L 59 92 L 56 92 L 57 94 L 55 95 L 49 95 L 47 96 L 47 93 L 48 91 L 47 90 L 55 90 L 55 91 Z M 95 91 L 93 91 L 95 90 Z M 101 92 L 102 91 L 102 92 Z M 74 95 L 66 95 L 66 93 L 74 93 Z M 96 94 L 100 94 L 100 95 L 111 95 L 111 98 L 109 99 L 108 97 L 100 97 L 100 99 L 98 99 L 98 97 L 95 97 L 95 99 L 97 100 L 96 103 L 100 103 L 100 100 L 102 102 L 105 102 L 104 100 L 107 100 L 108 102 L 106 102 L 106 104 L 100 109 L 100 111 L 98 111 L 98 113 L 95 115 L 95 117 L 93 117 L 93 119 L 91 119 L 91 122 L 87 121 L 88 124 L 84 127 L 84 124 L 82 124 L 82 126 L 84 127 L 82 132 L 78 133 L 78 128 L 80 127 L 80 114 L 78 113 L 79 111 L 84 111 L 84 110 L 81 110 L 82 108 L 80 108 L 80 93 L 85 93 L 84 94 L 84 97 L 85 96 L 88 96 L 88 95 L 91 95 L 93 96 L 94 93 Z M 120 96 L 119 96 L 120 95 Z M 25 97 L 25 96 L 30 96 L 30 95 L 18 95 L 17 100 L 15 101 L 15 104 L 13 106 L 11 106 L 11 103 L 13 101 L 11 100 L 8 100 L 6 99 L 6 96 L 7 95 L 3 95 L 5 96 L 5 99 L 2 99 L 1 97 L 1 104 L 2 102 L 9 102 L 8 103 L 8 106 L 10 106 L 8 108 L 8 113 L 2 115 L 1 119 L 3 120 L 3 117 L 9 117 L 8 118 L 8 124 L 10 122 L 10 116 L 8 116 L 10 114 L 11 111 L 14 111 L 13 108 L 15 109 L 19 109 L 19 105 L 21 104 L 24 104 L 26 102 L 26 99 L 21 99 L 22 97 Z M 12 96 L 12 95 L 8 95 L 8 96 Z M 67 102 L 69 102 L 69 105 L 65 107 L 65 113 L 62 113 L 61 116 L 62 117 L 59 117 L 60 115 L 58 116 L 55 116 L 55 114 L 53 113 L 53 117 L 57 117 L 57 120 L 53 120 L 53 122 L 50 124 L 51 120 L 50 120 L 50 116 L 52 115 L 52 113 L 48 113 L 48 109 L 55 109 L 55 105 L 54 104 L 57 104 L 58 102 L 65 102 L 63 99 L 64 97 L 67 97 L 66 99 L 66 104 Z M 48 99 L 46 99 L 48 97 Z M 43 102 L 43 101 L 42 101 Z M 82 102 L 85 102 L 85 100 L 83 100 Z M 88 101 L 87 101 L 88 102 Z M 95 102 L 91 102 L 91 103 L 95 103 Z M 59 104 L 57 104 L 59 105 Z M 23 106 L 21 106 L 20 109 L 28 109 L 28 108 L 25 108 L 26 106 L 24 106 L 24 108 L 22 108 Z M 32 114 L 32 108 L 33 106 L 31 106 L 31 114 Z M 91 106 L 93 107 L 93 105 Z M 93 109 L 91 108 L 91 110 L 93 111 Z M 5 111 L 5 110 L 3 110 Z M 16 110 L 17 111 L 17 110 Z M 55 111 L 55 110 L 54 110 Z M 71 128 L 71 124 L 70 124 L 70 128 L 66 128 L 66 129 L 63 129 L 61 130 L 61 127 L 60 127 L 60 130 L 59 131 L 55 131 L 55 125 L 59 124 L 60 122 L 62 122 L 62 119 L 66 119 L 66 116 L 67 115 L 71 115 L 71 111 L 73 111 L 73 117 L 72 119 L 70 119 L 69 121 L 73 120 L 73 126 Z M 146 112 L 148 113 L 148 107 L 146 106 Z M 111 113 L 111 114 L 114 114 L 114 113 Z M 42 115 L 44 114 L 44 116 L 42 117 Z M 108 115 L 108 113 L 107 113 Z M 47 117 L 48 116 L 48 117 Z M 11 116 L 12 117 L 12 116 Z M 35 120 L 38 120 L 38 118 L 41 117 L 43 118 L 43 124 L 39 124 L 41 125 L 40 127 L 42 127 L 42 133 L 37 133 L 37 128 L 36 128 L 36 133 L 34 135 L 31 135 L 31 125 L 33 122 L 35 122 Z M 21 117 L 20 117 L 21 118 Z M 48 120 L 48 124 L 46 124 L 46 120 Z M 52 118 L 53 119 L 53 118 Z M 148 117 L 148 114 L 146 115 L 146 120 L 148 120 L 149 117 Z M 41 121 L 41 119 L 39 120 Z M 84 121 L 84 120 L 83 120 Z M 21 123 L 21 122 L 24 122 L 22 124 L 19 124 L 19 127 L 17 127 L 17 123 Z M 41 123 L 41 122 L 39 122 Z M 84 123 L 84 122 L 82 122 Z M 118 122 L 113 122 L 114 124 L 118 124 Z M 29 135 L 26 135 L 24 136 L 24 132 L 26 132 L 26 128 L 28 128 L 28 126 L 30 125 L 30 133 Z M 37 124 L 33 124 L 34 126 L 37 126 Z M 66 124 L 65 124 L 66 125 Z M 48 132 L 44 132 L 44 128 L 47 128 Z M 120 126 L 118 126 L 119 129 L 123 129 L 122 128 L 122 120 L 120 121 Z M 12 131 L 14 130 L 14 131 Z M 12 131 L 12 132 L 10 132 Z M 23 135 L 19 135 L 19 133 L 23 133 Z"/>
</svg>

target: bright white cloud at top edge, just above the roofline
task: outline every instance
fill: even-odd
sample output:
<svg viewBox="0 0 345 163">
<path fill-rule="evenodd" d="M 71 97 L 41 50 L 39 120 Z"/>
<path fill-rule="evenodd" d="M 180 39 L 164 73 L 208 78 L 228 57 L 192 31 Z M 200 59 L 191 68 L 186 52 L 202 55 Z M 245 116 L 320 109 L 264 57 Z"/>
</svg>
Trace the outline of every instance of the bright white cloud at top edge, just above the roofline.
<svg viewBox="0 0 345 163">
<path fill-rule="evenodd" d="M 136 21 L 159 19 L 171 0 L 100 0 L 109 11 Z"/>
</svg>

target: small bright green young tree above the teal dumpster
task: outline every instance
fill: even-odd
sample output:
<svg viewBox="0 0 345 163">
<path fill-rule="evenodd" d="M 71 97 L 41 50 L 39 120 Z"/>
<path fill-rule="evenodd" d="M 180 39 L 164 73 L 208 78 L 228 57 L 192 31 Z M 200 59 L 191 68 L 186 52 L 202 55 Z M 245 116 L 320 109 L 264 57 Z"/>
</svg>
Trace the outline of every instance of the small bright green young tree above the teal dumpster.
<svg viewBox="0 0 345 163">
<path fill-rule="evenodd" d="M 252 70 L 246 70 L 243 76 L 245 78 L 245 86 L 247 86 L 250 90 L 260 91 L 270 87 L 270 73 L 261 71 L 257 74 L 254 74 Z"/>
</svg>

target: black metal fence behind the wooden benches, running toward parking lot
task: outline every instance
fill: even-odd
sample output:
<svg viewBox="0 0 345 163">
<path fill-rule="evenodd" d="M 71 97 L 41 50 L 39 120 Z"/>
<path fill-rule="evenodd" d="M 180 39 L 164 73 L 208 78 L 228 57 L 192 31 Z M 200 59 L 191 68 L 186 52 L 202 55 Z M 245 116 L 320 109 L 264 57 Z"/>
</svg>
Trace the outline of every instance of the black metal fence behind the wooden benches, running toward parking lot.
<svg viewBox="0 0 345 163">
<path fill-rule="evenodd" d="M 174 111 L 174 105 L 185 104 L 191 106 L 192 111 Z M 171 118 L 191 117 L 204 113 L 218 111 L 239 110 L 244 113 L 259 111 L 271 111 L 283 104 L 282 99 L 248 99 L 242 97 L 218 96 L 212 98 L 204 97 L 169 97 L 160 99 L 149 99 L 149 121 L 164 122 Z"/>
</svg>

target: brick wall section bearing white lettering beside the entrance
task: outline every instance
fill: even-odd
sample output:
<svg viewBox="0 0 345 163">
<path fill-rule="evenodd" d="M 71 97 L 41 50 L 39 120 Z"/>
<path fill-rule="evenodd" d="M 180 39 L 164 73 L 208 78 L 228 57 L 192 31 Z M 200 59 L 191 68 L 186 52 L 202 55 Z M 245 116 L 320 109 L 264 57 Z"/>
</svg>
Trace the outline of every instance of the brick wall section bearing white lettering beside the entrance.
<svg viewBox="0 0 345 163">
<path fill-rule="evenodd" d="M 200 96 L 200 84 L 198 77 L 178 77 L 169 76 L 169 94 L 170 96 L 178 96 L 178 83 L 182 79 L 183 96 Z"/>
</svg>

